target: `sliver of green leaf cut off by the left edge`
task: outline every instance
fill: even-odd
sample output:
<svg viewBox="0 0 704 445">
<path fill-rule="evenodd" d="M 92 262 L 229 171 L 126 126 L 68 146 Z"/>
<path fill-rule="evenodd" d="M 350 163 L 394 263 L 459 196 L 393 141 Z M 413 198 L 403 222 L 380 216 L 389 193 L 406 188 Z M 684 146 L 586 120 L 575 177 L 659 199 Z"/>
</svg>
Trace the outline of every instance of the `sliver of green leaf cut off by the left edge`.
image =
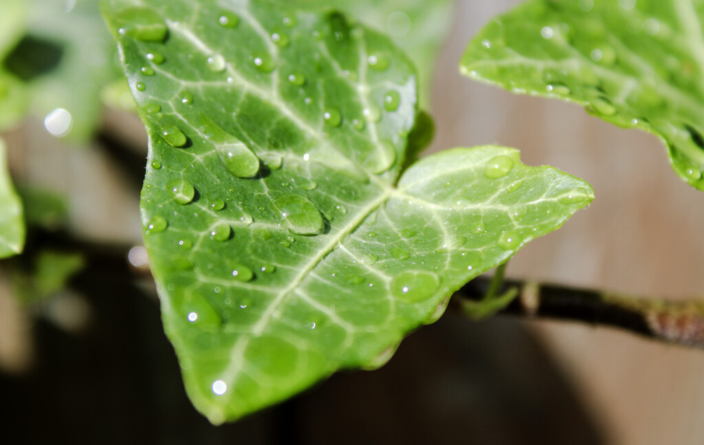
<svg viewBox="0 0 704 445">
<path fill-rule="evenodd" d="M 22 202 L 15 193 L 6 163 L 6 148 L 0 139 L 0 258 L 21 253 L 25 245 Z"/>
</svg>

